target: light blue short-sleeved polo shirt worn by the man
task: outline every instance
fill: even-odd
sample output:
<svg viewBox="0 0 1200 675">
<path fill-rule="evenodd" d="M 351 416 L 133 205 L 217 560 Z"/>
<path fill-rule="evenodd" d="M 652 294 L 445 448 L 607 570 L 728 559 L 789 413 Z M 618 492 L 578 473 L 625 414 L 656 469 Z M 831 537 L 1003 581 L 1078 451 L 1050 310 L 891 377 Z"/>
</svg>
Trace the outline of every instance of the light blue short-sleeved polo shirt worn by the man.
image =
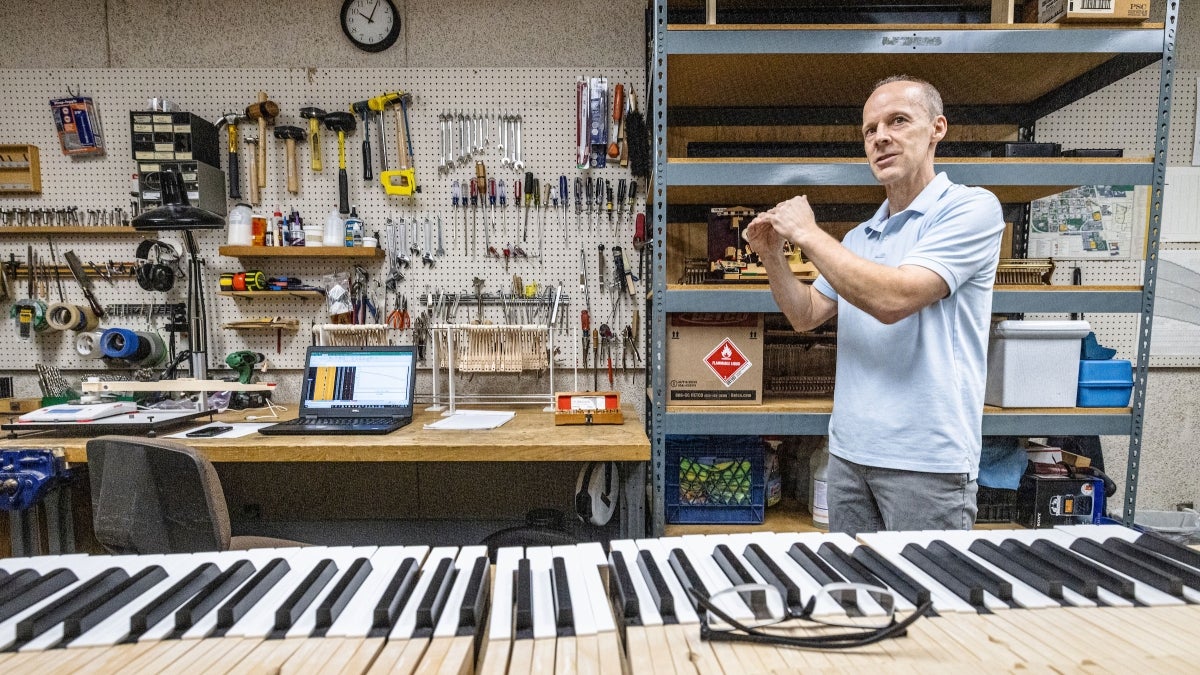
<svg viewBox="0 0 1200 675">
<path fill-rule="evenodd" d="M 937 174 L 904 211 L 884 202 L 842 244 L 888 267 L 920 265 L 950 294 L 886 325 L 838 297 L 829 452 L 868 466 L 979 472 L 991 287 L 1004 217 L 996 196 Z"/>
</svg>

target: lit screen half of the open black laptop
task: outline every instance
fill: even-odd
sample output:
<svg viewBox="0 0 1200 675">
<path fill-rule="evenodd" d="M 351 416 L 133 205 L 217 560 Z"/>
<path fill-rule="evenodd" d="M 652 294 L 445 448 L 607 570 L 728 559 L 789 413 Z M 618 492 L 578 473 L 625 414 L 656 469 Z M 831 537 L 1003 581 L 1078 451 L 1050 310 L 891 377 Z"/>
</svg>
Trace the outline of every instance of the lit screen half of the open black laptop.
<svg viewBox="0 0 1200 675">
<path fill-rule="evenodd" d="M 301 412 L 410 416 L 415 380 L 410 346 L 308 347 Z"/>
</svg>

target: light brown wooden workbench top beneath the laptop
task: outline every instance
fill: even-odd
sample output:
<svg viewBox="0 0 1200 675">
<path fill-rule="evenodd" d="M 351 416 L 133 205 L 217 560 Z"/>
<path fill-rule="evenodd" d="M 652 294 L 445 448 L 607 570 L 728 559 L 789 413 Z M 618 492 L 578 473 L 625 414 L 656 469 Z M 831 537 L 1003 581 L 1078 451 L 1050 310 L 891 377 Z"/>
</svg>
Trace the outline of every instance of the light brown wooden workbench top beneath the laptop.
<svg viewBox="0 0 1200 675">
<path fill-rule="evenodd" d="M 289 406 L 295 410 L 295 406 Z M 425 424 L 439 413 L 418 411 L 413 423 L 385 436 L 263 436 L 175 440 L 203 449 L 212 461 L 648 461 L 650 442 L 632 407 L 624 424 L 554 426 L 541 407 L 516 407 L 517 414 L 498 429 L 434 431 Z M 244 411 L 216 416 L 241 422 Z M 284 414 L 281 422 L 288 419 Z M 204 420 L 196 420 L 192 426 Z M 188 429 L 181 425 L 164 435 Z M 24 436 L 0 440 L 0 447 L 62 447 L 67 461 L 88 461 L 86 437 Z"/>
</svg>

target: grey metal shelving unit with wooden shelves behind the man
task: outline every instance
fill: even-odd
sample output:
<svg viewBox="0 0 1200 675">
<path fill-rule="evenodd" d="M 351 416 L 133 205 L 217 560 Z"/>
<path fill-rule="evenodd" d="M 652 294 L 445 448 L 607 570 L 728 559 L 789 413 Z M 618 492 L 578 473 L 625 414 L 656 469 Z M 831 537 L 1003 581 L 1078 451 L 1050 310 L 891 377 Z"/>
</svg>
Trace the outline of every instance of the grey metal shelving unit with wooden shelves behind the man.
<svg viewBox="0 0 1200 675">
<path fill-rule="evenodd" d="M 1078 185 L 1150 185 L 1159 196 L 1174 79 L 1178 1 L 1162 24 L 668 25 L 653 13 L 650 124 L 655 130 L 653 297 L 647 417 L 653 467 L 650 530 L 664 531 L 668 434 L 827 432 L 830 401 L 768 400 L 755 407 L 688 408 L 666 401 L 666 315 L 778 311 L 766 287 L 676 286 L 667 275 L 667 210 L 679 204 L 773 204 L 803 186 L 815 203 L 877 204 L 883 190 L 863 157 L 685 159 L 671 156 L 680 127 L 850 125 L 875 80 L 896 72 L 936 82 L 955 126 L 1007 125 L 1033 139 L 1038 119 L 1158 62 L 1154 154 L 1105 159 L 946 159 L 955 183 L 991 189 L 1021 204 Z M 736 102 L 736 103 L 731 103 Z M 1146 402 L 1162 199 L 1152 199 L 1142 286 L 997 287 L 996 312 L 1138 315 L 1133 401 L 1128 408 L 989 408 L 986 435 L 1128 435 L 1123 513 L 1132 521 Z"/>
</svg>

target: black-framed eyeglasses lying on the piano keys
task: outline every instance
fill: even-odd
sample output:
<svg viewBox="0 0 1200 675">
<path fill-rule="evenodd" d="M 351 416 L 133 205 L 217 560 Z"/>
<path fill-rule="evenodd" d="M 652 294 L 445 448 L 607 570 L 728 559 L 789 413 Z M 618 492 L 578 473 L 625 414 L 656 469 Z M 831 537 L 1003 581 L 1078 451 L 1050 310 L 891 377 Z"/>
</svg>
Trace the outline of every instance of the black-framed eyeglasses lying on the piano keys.
<svg viewBox="0 0 1200 675">
<path fill-rule="evenodd" d="M 892 591 L 866 584 L 828 584 L 799 608 L 788 607 L 780 589 L 770 584 L 731 586 L 712 596 L 691 587 L 688 592 L 701 610 L 702 640 L 803 649 L 850 649 L 898 638 L 932 609 L 932 603 L 924 603 L 898 620 Z M 857 631 L 797 634 L 829 626 Z"/>
</svg>

